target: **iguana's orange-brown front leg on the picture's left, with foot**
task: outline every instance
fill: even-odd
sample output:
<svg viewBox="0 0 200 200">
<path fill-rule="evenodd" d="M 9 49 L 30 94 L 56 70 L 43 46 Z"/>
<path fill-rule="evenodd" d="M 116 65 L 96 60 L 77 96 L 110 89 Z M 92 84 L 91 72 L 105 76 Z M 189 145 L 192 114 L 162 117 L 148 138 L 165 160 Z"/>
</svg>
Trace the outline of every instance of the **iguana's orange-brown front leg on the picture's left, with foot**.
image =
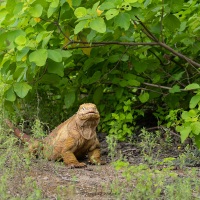
<svg viewBox="0 0 200 200">
<path fill-rule="evenodd" d="M 73 153 L 75 152 L 76 148 L 77 144 L 74 138 L 68 138 L 65 142 L 65 148 L 61 154 L 63 161 L 69 167 L 85 167 L 86 164 L 79 162 Z"/>
</svg>

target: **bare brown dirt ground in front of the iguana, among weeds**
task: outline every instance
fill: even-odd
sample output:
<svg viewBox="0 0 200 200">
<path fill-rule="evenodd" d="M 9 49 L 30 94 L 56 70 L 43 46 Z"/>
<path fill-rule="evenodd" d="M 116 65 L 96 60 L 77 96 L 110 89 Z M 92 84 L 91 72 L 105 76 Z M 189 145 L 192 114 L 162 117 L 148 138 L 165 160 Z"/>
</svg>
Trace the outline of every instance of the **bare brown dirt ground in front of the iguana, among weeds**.
<svg viewBox="0 0 200 200">
<path fill-rule="evenodd" d="M 122 175 L 123 170 L 116 171 L 114 169 L 111 162 L 112 155 L 109 154 L 105 134 L 99 134 L 99 139 L 102 159 L 106 161 L 105 165 L 88 165 L 85 168 L 71 169 L 66 167 L 63 162 L 47 161 L 42 158 L 32 158 L 30 161 L 24 159 L 15 164 L 14 175 L 8 176 L 7 196 L 1 197 L 1 199 L 111 200 L 116 199 L 115 194 L 120 192 L 120 189 L 117 188 L 120 185 L 125 185 L 125 188 L 122 190 L 127 190 L 127 192 L 131 191 L 136 183 L 128 184 L 127 179 Z M 20 145 L 17 148 L 23 154 L 24 148 Z M 131 165 L 140 165 L 140 163 L 144 162 L 144 157 L 141 156 L 141 149 L 137 148 L 132 142 L 120 142 L 114 151 L 114 160 L 123 157 Z M 160 154 L 161 157 L 178 156 L 178 151 L 173 151 L 173 148 L 169 151 L 170 154 L 165 155 L 166 152 L 162 152 Z M 84 161 L 87 162 L 87 160 Z M 8 158 L 5 170 L 10 169 L 11 171 L 13 168 L 12 163 L 11 159 Z M 160 167 L 161 170 L 163 168 L 165 166 Z M 187 173 L 175 167 L 172 170 L 176 171 L 176 174 L 180 177 L 185 177 Z M 5 174 L 4 170 L 0 172 L 2 180 L 3 173 Z M 197 175 L 199 177 L 199 170 Z M 147 176 L 149 175 L 147 174 Z M 170 179 L 167 181 L 172 182 Z M 148 190 L 148 188 L 146 189 Z M 123 199 L 119 196 L 118 194 L 117 199 Z"/>
</svg>

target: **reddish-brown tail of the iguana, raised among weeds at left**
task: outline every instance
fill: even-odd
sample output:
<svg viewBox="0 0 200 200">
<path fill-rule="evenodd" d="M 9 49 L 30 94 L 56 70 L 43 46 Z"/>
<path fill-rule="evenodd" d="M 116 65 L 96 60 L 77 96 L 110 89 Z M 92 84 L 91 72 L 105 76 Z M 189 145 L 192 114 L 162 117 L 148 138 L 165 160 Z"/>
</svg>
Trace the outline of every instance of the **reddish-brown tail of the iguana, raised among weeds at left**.
<svg viewBox="0 0 200 200">
<path fill-rule="evenodd" d="M 33 141 L 33 138 L 25 133 L 22 133 L 17 127 L 13 125 L 13 123 L 6 119 L 5 120 L 6 124 L 13 130 L 13 133 L 15 136 L 17 136 L 22 142 L 28 142 Z"/>
</svg>

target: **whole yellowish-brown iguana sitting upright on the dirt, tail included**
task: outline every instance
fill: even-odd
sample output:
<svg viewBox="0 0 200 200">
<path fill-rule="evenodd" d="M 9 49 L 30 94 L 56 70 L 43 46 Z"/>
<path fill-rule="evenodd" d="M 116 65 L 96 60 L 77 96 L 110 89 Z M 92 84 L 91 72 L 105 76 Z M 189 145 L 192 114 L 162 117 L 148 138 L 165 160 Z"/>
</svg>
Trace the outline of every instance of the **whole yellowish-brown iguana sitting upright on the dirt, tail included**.
<svg viewBox="0 0 200 200">
<path fill-rule="evenodd" d="M 100 143 L 96 135 L 96 127 L 100 115 L 95 104 L 80 105 L 78 112 L 56 127 L 42 140 L 33 139 L 22 133 L 9 120 L 7 125 L 23 142 L 27 142 L 31 153 L 42 151 L 48 160 L 63 159 L 70 167 L 85 167 L 77 158 L 88 155 L 92 164 L 104 164 L 100 159 Z"/>
</svg>

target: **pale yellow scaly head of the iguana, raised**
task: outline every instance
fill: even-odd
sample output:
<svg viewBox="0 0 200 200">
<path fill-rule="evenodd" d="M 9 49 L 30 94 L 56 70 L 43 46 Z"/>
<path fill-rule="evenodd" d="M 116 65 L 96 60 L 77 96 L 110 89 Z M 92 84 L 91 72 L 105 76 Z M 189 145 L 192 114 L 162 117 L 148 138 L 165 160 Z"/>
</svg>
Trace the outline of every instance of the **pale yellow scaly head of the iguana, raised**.
<svg viewBox="0 0 200 200">
<path fill-rule="evenodd" d="M 80 105 L 77 115 L 81 120 L 100 118 L 99 111 L 97 110 L 96 105 L 93 103 L 84 103 Z"/>
</svg>

